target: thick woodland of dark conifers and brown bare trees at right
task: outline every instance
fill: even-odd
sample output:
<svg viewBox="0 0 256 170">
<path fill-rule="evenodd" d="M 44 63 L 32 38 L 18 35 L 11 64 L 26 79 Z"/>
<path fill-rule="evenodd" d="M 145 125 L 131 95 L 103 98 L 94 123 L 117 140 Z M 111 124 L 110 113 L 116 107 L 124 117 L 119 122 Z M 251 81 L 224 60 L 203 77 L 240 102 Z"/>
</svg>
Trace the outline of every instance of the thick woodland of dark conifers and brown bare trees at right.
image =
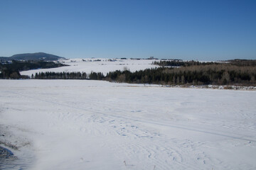
<svg viewBox="0 0 256 170">
<path fill-rule="evenodd" d="M 256 85 L 256 67 L 235 64 L 194 64 L 186 67 L 145 69 L 143 71 L 115 71 L 105 77 L 108 81 L 169 84 L 169 85 Z"/>
</svg>

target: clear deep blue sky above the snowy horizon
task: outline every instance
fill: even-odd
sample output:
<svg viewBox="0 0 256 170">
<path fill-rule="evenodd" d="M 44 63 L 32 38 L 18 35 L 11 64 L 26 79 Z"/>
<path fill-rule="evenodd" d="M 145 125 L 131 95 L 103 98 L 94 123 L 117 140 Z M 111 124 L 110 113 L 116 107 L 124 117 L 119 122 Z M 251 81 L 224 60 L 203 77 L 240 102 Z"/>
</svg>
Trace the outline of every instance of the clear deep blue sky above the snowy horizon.
<svg viewBox="0 0 256 170">
<path fill-rule="evenodd" d="M 1 0 L 0 56 L 256 59 L 256 0 Z"/>
</svg>

